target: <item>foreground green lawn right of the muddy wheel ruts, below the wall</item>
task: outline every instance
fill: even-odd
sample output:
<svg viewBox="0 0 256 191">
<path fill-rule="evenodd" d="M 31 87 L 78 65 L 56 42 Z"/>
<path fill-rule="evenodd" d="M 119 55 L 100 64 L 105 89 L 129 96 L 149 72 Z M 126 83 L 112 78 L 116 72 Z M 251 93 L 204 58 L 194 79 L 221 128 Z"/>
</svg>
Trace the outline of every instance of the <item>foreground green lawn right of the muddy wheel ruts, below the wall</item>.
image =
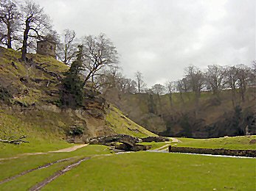
<svg viewBox="0 0 256 191">
<path fill-rule="evenodd" d="M 99 156 L 43 190 L 255 190 L 255 159 L 138 152 Z"/>
</svg>

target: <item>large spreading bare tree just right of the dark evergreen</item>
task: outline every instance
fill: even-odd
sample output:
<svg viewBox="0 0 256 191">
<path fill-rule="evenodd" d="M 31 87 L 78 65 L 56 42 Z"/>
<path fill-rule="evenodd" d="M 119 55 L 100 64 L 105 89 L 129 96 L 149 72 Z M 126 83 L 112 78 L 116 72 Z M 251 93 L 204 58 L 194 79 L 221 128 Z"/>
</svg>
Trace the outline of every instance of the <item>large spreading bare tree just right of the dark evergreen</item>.
<svg viewBox="0 0 256 191">
<path fill-rule="evenodd" d="M 118 63 L 117 49 L 104 34 L 84 37 L 83 57 L 84 85 L 89 79 L 94 83 L 95 75 L 104 68 L 114 67 Z"/>
</svg>

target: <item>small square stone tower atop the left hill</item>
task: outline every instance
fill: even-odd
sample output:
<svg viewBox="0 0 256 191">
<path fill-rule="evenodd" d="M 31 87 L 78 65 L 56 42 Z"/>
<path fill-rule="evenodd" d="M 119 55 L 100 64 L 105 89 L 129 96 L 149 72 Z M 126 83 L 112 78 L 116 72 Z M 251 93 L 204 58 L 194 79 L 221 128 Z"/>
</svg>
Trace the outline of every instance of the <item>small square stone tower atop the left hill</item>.
<svg viewBox="0 0 256 191">
<path fill-rule="evenodd" d="M 36 53 L 56 58 L 56 43 L 49 40 L 38 41 Z"/>
</svg>

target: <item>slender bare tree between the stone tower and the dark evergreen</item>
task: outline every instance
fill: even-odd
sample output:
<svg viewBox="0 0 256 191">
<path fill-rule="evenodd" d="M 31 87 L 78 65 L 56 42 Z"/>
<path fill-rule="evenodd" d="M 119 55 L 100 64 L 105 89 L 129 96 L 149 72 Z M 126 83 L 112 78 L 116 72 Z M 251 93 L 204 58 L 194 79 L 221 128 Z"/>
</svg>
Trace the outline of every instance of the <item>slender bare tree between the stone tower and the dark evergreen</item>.
<svg viewBox="0 0 256 191">
<path fill-rule="evenodd" d="M 63 42 L 58 46 L 58 59 L 66 65 L 69 65 L 74 59 L 77 52 L 77 40 L 74 30 L 65 29 Z"/>
</svg>

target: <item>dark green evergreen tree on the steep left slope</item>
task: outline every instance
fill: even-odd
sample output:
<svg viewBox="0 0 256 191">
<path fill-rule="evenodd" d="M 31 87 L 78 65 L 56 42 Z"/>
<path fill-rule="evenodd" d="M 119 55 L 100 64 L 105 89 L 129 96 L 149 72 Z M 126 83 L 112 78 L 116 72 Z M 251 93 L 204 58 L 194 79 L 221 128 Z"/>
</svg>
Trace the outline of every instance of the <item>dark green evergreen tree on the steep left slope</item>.
<svg viewBox="0 0 256 191">
<path fill-rule="evenodd" d="M 66 107 L 77 108 L 83 105 L 83 80 L 80 79 L 82 51 L 83 46 L 78 46 L 77 58 L 61 82 L 60 103 Z"/>
</svg>

